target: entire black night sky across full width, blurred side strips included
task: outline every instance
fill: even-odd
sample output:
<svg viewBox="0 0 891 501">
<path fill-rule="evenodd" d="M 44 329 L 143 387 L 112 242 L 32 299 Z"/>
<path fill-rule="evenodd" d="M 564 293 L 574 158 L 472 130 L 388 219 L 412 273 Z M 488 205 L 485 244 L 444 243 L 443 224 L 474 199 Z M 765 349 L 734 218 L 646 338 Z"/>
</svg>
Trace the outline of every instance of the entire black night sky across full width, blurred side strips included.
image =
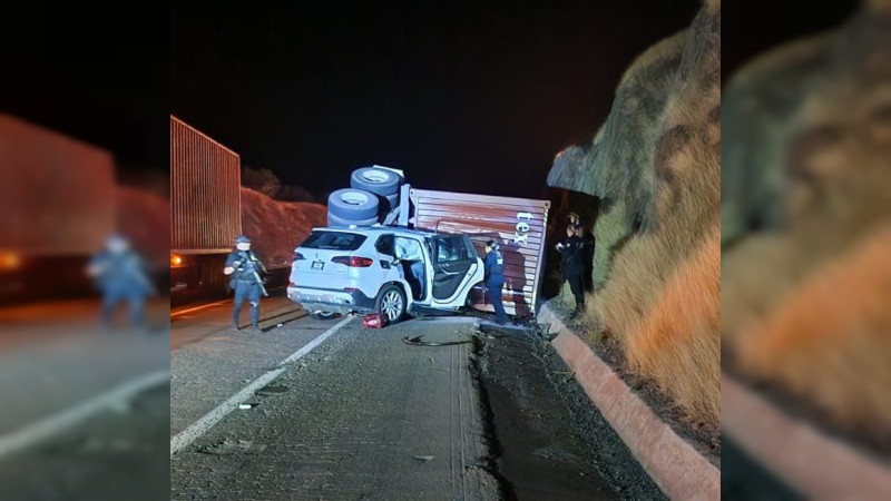
<svg viewBox="0 0 891 501">
<path fill-rule="evenodd" d="M 223 3 L 16 4 L 0 30 L 0 111 L 102 146 L 125 167 L 167 171 L 174 112 L 316 191 L 379 163 L 419 186 L 540 196 L 554 154 L 608 114 L 625 66 L 698 7 Z M 838 26 L 851 4 L 728 2 L 725 75 Z"/>
</svg>

